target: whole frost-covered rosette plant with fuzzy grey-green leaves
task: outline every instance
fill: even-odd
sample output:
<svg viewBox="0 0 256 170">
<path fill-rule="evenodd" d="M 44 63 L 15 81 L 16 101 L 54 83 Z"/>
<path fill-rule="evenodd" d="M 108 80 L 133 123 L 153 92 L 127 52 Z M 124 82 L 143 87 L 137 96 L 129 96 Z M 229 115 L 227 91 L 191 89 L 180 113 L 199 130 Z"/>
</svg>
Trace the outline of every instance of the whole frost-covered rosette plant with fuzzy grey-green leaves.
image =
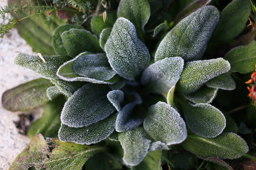
<svg viewBox="0 0 256 170">
<path fill-rule="evenodd" d="M 209 0 L 204 2 L 201 8 L 197 6 L 199 1 L 192 3 L 193 12 L 190 10 L 165 36 L 160 36 L 156 50 L 146 45 L 152 48 L 146 41 L 149 34 L 145 25 L 152 10 L 147 0 L 121 0 L 117 12 L 107 12 L 105 21 L 101 16 L 93 17 L 94 34 L 82 26 L 58 27 L 53 36 L 58 56 L 16 56 L 15 64 L 43 78 L 7 91 L 3 106 L 27 110 L 64 94 L 68 99 L 58 130 L 63 142 L 89 145 L 107 138 L 119 141 L 123 163 L 132 169 L 150 164 L 142 161 L 147 154 L 152 156 L 152 151 L 169 150 L 174 144 L 201 159 L 231 168 L 222 159 L 239 158 L 248 152 L 248 146 L 233 131 L 223 131 L 228 126 L 226 116 L 210 103 L 219 89 L 236 88 L 231 72 L 254 70 L 242 64 L 244 61 L 254 66 L 247 59 L 255 42 L 229 51 L 224 59 L 204 59 L 203 55 L 212 34 L 212 41 L 219 41 L 241 32 L 250 5 L 246 0 L 233 0 L 219 15 L 216 7 L 207 5 Z M 228 35 L 222 25 L 238 7 L 243 14 L 239 14 L 238 27 Z M 152 36 L 166 29 L 169 27 L 165 23 L 160 24 Z M 242 52 L 242 60 L 236 59 Z M 30 100 L 31 96 L 25 101 L 14 97 L 20 92 L 25 96 L 30 88 L 36 89 L 36 102 Z M 29 103 L 29 107 L 23 108 L 21 102 Z M 156 161 L 152 170 L 161 168 L 160 156 L 161 151 L 158 160 L 152 160 Z"/>
</svg>

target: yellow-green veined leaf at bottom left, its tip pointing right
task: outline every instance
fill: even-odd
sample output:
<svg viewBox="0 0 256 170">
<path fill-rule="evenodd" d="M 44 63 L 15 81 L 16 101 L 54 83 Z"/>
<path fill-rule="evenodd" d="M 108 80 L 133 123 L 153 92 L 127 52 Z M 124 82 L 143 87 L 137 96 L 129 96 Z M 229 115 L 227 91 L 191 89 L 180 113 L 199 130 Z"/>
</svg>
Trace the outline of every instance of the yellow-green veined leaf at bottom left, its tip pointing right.
<svg viewBox="0 0 256 170">
<path fill-rule="evenodd" d="M 59 139 L 48 138 L 47 143 L 53 143 L 54 149 L 49 159 L 44 161 L 46 170 L 81 170 L 83 164 L 95 153 L 104 151 L 100 146 L 87 146 L 71 142 L 61 142 Z"/>
</svg>

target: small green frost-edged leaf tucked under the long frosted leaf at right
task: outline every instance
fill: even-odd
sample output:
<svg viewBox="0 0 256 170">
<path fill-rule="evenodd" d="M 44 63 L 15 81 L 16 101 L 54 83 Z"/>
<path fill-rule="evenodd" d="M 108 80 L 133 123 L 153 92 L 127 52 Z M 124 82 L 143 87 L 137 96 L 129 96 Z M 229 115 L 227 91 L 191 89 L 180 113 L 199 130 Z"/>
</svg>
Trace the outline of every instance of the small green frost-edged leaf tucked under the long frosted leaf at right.
<svg viewBox="0 0 256 170">
<path fill-rule="evenodd" d="M 218 88 L 223 90 L 235 90 L 236 82 L 230 76 L 229 73 L 224 73 L 217 77 L 214 77 L 205 83 L 208 87 Z"/>
</svg>

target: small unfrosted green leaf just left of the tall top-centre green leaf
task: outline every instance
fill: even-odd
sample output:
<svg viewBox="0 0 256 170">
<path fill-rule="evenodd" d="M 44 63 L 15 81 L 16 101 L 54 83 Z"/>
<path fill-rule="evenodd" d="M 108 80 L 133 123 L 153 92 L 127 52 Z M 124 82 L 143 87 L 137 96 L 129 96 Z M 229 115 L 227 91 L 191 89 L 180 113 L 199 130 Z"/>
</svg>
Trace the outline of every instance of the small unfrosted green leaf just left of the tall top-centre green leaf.
<svg viewBox="0 0 256 170">
<path fill-rule="evenodd" d="M 102 14 L 96 15 L 91 19 L 92 32 L 99 37 L 102 30 L 104 30 L 105 28 L 113 27 L 116 20 L 117 20 L 117 11 L 107 11 L 107 17 L 105 22 L 103 20 Z"/>
</svg>

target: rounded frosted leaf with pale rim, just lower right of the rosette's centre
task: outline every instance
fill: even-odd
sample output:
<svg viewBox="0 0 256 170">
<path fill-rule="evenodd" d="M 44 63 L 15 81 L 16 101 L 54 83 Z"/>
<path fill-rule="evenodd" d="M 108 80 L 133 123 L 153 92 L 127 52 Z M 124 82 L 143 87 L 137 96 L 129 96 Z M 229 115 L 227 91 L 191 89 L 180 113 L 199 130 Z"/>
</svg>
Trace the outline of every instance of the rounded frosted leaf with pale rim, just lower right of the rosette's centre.
<svg viewBox="0 0 256 170">
<path fill-rule="evenodd" d="M 157 102 L 148 108 L 144 128 L 156 141 L 180 144 L 187 137 L 186 125 L 178 111 L 165 102 Z"/>
</svg>

